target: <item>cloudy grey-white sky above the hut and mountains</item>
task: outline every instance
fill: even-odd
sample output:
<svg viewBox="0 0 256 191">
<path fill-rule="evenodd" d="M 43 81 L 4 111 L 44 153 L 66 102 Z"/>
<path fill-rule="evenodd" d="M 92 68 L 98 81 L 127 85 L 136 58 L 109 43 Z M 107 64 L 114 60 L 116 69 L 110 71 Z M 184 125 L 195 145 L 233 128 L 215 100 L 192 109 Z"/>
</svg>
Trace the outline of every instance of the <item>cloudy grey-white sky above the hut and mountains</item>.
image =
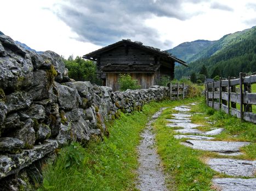
<svg viewBox="0 0 256 191">
<path fill-rule="evenodd" d="M 166 50 L 255 25 L 255 0 L 1 0 L 0 6 L 0 31 L 66 58 L 121 39 Z"/>
</svg>

